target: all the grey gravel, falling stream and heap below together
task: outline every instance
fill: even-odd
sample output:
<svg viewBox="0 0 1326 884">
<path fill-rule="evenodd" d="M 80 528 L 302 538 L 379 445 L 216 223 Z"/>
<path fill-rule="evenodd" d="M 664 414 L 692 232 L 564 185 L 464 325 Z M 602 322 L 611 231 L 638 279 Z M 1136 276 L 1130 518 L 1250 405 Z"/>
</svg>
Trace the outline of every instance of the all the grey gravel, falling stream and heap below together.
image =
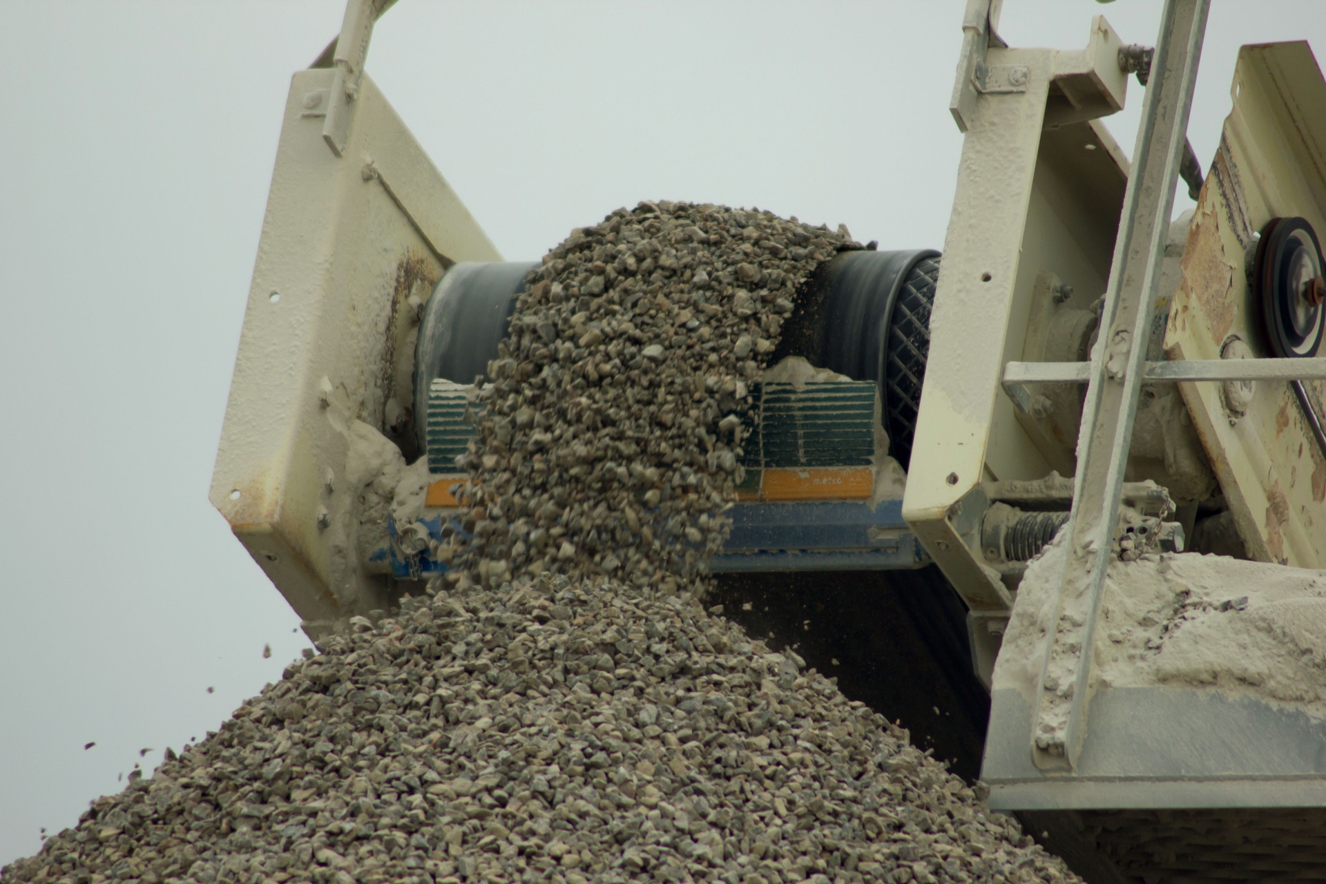
<svg viewBox="0 0 1326 884">
<path fill-rule="evenodd" d="M 350 620 L 4 880 L 1074 880 L 703 606 L 736 415 L 845 248 L 670 203 L 574 232 L 491 366 L 447 582 Z"/>
</svg>

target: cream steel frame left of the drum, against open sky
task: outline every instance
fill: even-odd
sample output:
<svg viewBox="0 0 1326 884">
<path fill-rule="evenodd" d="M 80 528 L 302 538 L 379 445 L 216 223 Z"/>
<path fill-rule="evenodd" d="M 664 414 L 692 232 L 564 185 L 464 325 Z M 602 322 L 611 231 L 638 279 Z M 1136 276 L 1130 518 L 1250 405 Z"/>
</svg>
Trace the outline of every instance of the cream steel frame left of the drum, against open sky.
<svg viewBox="0 0 1326 884">
<path fill-rule="evenodd" d="M 377 473 L 350 443 L 386 443 L 383 410 L 410 378 L 410 297 L 452 262 L 501 260 L 367 76 L 329 148 L 337 73 L 290 83 L 211 489 L 306 624 L 387 600 L 357 554 L 358 485 Z"/>
</svg>

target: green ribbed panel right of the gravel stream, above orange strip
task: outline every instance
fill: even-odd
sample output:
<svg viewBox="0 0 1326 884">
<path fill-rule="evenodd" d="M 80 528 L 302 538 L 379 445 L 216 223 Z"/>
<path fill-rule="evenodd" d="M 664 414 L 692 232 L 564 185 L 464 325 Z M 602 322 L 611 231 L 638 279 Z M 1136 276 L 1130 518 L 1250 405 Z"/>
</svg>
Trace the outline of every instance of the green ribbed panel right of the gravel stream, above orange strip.
<svg viewBox="0 0 1326 884">
<path fill-rule="evenodd" d="M 875 456 L 875 383 L 842 380 L 753 384 L 753 425 L 743 443 L 747 469 L 867 467 Z M 757 419 L 756 419 L 757 417 Z"/>
</svg>

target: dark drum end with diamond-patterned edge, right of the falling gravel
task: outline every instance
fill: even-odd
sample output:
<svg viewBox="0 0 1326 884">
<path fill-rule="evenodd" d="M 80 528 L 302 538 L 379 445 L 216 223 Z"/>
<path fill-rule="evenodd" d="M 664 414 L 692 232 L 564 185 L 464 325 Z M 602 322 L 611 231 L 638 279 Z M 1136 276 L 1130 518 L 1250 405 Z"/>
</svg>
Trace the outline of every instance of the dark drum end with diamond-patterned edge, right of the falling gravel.
<svg viewBox="0 0 1326 884">
<path fill-rule="evenodd" d="M 940 254 L 843 252 L 821 268 L 808 298 L 810 362 L 879 386 L 888 452 L 911 463 Z M 809 346 L 806 346 L 809 345 Z"/>
</svg>

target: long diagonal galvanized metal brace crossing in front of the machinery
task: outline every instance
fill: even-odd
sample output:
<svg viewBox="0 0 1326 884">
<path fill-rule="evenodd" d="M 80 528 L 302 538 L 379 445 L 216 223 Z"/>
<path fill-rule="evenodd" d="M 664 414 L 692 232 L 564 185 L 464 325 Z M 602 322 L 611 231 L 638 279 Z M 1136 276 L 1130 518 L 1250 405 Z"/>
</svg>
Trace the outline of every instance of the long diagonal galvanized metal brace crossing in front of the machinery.
<svg viewBox="0 0 1326 884">
<path fill-rule="evenodd" d="M 1091 357 L 1063 573 L 1033 706 L 1032 758 L 1048 770 L 1073 770 L 1085 733 L 1101 596 L 1208 11 L 1209 0 L 1166 0 L 1160 19 Z"/>
</svg>

